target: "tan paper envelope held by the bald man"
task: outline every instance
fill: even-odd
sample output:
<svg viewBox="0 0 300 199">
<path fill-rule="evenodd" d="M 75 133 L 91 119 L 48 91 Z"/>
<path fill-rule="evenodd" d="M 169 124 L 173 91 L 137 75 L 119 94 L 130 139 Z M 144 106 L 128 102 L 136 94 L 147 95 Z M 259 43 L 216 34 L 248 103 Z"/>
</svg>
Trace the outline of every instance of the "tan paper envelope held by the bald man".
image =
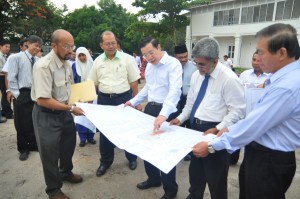
<svg viewBox="0 0 300 199">
<path fill-rule="evenodd" d="M 96 98 L 96 89 L 93 81 L 85 81 L 71 85 L 69 104 L 93 101 Z"/>
</svg>

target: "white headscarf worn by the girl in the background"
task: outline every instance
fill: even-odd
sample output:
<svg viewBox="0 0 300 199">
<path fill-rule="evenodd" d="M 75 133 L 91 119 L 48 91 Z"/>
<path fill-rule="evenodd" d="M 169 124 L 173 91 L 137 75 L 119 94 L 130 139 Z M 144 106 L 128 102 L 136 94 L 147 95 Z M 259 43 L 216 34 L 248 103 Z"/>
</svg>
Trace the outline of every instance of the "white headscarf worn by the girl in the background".
<svg viewBox="0 0 300 199">
<path fill-rule="evenodd" d="M 78 55 L 82 53 L 86 56 L 86 62 L 83 63 L 79 60 Z M 89 51 L 85 47 L 79 47 L 76 50 L 76 58 L 75 58 L 75 66 L 76 66 L 76 72 L 81 77 L 81 82 L 86 81 L 89 73 L 93 66 L 93 59 L 89 53 Z"/>
</svg>

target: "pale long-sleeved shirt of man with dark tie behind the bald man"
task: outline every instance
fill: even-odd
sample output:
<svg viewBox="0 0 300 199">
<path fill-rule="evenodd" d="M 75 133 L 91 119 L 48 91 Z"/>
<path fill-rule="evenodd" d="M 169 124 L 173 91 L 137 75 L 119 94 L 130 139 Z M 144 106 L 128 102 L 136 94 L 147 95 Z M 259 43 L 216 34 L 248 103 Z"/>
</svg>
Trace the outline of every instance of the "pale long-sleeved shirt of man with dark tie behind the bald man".
<svg viewBox="0 0 300 199">
<path fill-rule="evenodd" d="M 8 88 L 15 98 L 18 98 L 21 88 L 32 86 L 32 55 L 26 50 L 12 55 L 8 62 L 7 81 Z M 38 57 L 34 57 L 35 61 Z"/>
</svg>

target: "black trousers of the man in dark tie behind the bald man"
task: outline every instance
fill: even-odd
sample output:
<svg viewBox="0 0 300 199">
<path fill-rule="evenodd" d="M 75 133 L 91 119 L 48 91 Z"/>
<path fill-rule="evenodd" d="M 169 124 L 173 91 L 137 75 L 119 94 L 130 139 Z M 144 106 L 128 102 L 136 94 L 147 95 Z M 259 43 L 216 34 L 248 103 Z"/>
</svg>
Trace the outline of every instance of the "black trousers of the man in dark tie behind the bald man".
<svg viewBox="0 0 300 199">
<path fill-rule="evenodd" d="M 17 131 L 17 147 L 20 153 L 37 150 L 32 121 L 34 102 L 28 95 L 27 98 L 29 97 L 29 99 L 21 100 L 21 98 L 24 96 L 23 92 L 30 93 L 30 90 L 20 91 L 20 99 L 14 99 L 13 103 L 15 112 L 14 123 Z"/>
</svg>

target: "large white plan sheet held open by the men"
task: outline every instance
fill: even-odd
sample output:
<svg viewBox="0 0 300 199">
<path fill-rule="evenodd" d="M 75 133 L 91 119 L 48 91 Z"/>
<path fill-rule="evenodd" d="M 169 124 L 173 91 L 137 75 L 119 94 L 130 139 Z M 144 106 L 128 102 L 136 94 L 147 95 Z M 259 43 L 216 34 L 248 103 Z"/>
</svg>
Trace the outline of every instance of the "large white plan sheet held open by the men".
<svg viewBox="0 0 300 199">
<path fill-rule="evenodd" d="M 168 173 L 200 141 L 215 135 L 164 122 L 159 132 L 153 133 L 155 118 L 132 107 L 103 106 L 76 103 L 85 116 L 117 147 L 150 162 Z"/>
</svg>

